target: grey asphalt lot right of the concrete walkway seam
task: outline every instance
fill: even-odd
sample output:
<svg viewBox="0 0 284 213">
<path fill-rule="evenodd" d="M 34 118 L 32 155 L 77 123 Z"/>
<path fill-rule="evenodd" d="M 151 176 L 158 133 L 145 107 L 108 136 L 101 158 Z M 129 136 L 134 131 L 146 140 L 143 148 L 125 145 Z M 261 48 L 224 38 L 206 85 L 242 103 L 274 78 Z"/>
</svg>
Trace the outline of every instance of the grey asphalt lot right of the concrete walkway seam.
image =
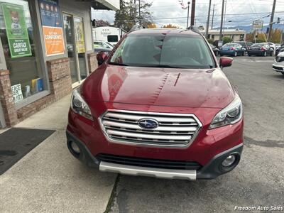
<svg viewBox="0 0 284 213">
<path fill-rule="evenodd" d="M 111 212 L 284 207 L 284 75 L 271 69 L 273 59 L 237 57 L 224 69 L 244 102 L 245 146 L 235 170 L 216 180 L 195 182 L 119 175 Z"/>
</svg>

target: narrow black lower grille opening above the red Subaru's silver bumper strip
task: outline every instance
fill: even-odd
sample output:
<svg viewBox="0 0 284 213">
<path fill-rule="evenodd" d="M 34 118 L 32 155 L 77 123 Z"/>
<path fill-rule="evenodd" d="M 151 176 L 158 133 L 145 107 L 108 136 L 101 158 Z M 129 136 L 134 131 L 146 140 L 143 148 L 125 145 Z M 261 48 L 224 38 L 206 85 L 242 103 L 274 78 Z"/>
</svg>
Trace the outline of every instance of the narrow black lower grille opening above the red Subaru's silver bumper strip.
<svg viewBox="0 0 284 213">
<path fill-rule="evenodd" d="M 108 163 L 119 163 L 124 165 L 136 165 L 142 167 L 151 168 L 165 168 L 165 169 L 177 169 L 177 170 L 199 170 L 202 168 L 197 162 L 184 161 L 184 160 L 160 160 L 160 159 L 149 159 L 149 158 L 135 158 L 121 155 L 110 155 L 100 153 L 96 156 L 100 161 Z"/>
</svg>

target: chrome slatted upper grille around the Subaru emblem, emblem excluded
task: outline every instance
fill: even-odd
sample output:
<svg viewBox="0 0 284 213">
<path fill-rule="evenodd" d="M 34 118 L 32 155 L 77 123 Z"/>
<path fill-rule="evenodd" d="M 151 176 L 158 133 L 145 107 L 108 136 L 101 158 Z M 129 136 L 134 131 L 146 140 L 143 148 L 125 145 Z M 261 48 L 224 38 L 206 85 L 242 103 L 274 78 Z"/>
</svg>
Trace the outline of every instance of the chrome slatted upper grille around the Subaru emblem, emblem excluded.
<svg viewBox="0 0 284 213">
<path fill-rule="evenodd" d="M 143 129 L 141 119 L 155 119 L 158 127 Z M 150 146 L 189 146 L 202 124 L 193 114 L 109 110 L 99 118 L 108 140 L 114 143 Z"/>
</svg>

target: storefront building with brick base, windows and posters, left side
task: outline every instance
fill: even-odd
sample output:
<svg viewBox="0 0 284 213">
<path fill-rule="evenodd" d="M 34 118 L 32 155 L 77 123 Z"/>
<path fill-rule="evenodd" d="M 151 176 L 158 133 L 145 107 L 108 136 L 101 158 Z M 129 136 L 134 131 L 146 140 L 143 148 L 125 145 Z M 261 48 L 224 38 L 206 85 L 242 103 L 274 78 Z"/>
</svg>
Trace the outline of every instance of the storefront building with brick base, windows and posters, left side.
<svg viewBox="0 0 284 213">
<path fill-rule="evenodd" d="M 0 0 L 0 128 L 70 94 L 97 67 L 94 9 L 119 0 Z"/>
</svg>

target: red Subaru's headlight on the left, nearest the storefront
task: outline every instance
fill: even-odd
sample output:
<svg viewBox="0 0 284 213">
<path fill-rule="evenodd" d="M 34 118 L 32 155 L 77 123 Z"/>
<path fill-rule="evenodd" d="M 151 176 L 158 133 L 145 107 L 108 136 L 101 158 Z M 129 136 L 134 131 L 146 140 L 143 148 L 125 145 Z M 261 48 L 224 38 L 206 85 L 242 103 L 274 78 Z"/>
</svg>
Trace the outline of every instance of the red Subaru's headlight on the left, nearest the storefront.
<svg viewBox="0 0 284 213">
<path fill-rule="evenodd" d="M 81 97 L 80 93 L 78 92 L 78 89 L 75 89 L 72 93 L 71 108 L 77 114 L 80 114 L 81 116 L 84 116 L 85 118 L 93 121 L 91 110 L 89 109 L 88 104 Z"/>
</svg>

